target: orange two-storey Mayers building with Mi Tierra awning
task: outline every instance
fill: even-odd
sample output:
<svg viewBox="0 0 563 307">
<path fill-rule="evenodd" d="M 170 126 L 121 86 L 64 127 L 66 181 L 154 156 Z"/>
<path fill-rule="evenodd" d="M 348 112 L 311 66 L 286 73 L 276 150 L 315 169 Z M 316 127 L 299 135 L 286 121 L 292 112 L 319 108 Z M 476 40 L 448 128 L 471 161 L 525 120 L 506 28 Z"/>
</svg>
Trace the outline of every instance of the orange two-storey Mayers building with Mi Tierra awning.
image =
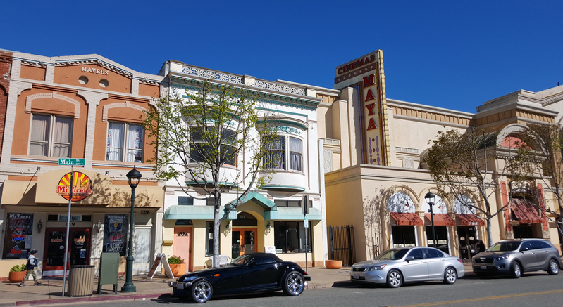
<svg viewBox="0 0 563 307">
<path fill-rule="evenodd" d="M 1 64 L 6 74 L 4 58 Z M 134 270 L 148 271 L 161 251 L 163 190 L 152 176 L 154 152 L 142 122 L 159 98 L 163 77 L 99 55 L 15 52 L 4 79 L 9 86 L 0 86 L 7 93 L 0 277 L 25 262 L 30 249 L 39 251 L 40 275 L 62 275 L 69 203 L 68 264 L 98 266 L 101 252 L 119 252 L 123 272 L 132 235 Z M 74 159 L 83 165 L 70 166 Z M 125 175 L 134 166 L 143 177 L 130 234 L 131 188 Z"/>
</svg>

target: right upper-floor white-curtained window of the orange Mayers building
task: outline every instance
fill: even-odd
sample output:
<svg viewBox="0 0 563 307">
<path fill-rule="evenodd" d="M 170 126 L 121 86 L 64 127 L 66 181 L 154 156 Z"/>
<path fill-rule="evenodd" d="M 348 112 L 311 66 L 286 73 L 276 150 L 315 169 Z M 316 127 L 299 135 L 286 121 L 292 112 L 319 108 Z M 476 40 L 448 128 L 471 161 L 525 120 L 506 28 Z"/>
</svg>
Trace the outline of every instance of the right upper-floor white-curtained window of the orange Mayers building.
<svg viewBox="0 0 563 307">
<path fill-rule="evenodd" d="M 109 122 L 106 160 L 143 162 L 143 139 L 140 124 Z"/>
</svg>

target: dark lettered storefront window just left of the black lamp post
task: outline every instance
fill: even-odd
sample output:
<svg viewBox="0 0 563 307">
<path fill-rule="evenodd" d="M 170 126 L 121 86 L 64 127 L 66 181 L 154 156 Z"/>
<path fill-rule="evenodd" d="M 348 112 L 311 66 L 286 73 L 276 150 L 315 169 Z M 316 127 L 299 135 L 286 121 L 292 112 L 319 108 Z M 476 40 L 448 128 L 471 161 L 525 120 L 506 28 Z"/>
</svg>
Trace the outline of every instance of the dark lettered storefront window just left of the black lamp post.
<svg viewBox="0 0 563 307">
<path fill-rule="evenodd" d="M 127 247 L 128 214 L 106 214 L 104 219 L 104 247 L 102 252 L 125 256 Z"/>
</svg>

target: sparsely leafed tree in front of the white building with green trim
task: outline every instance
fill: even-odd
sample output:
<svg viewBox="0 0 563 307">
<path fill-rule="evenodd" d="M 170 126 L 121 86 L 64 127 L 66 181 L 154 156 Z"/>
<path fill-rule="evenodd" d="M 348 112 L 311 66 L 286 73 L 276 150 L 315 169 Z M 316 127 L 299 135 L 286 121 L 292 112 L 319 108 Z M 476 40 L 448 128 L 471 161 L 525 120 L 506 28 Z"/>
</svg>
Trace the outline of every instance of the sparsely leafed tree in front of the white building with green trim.
<svg viewBox="0 0 563 307">
<path fill-rule="evenodd" d="M 276 159 L 268 154 L 278 140 L 276 120 L 262 111 L 267 107 L 259 106 L 258 98 L 256 91 L 206 80 L 184 98 L 161 98 L 144 122 L 155 148 L 156 177 L 175 180 L 186 193 L 196 188 L 214 197 L 214 266 L 221 222 L 250 190 L 268 181 L 260 171 Z M 221 210 L 221 195 L 229 189 L 239 190 L 239 197 Z"/>
</svg>

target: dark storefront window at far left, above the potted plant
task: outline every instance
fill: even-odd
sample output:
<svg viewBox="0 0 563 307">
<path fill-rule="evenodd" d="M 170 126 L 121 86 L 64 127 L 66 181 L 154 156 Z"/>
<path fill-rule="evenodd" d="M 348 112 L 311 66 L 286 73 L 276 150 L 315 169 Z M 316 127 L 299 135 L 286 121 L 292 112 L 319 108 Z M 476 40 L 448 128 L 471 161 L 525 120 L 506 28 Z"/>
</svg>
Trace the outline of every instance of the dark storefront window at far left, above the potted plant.
<svg viewBox="0 0 563 307">
<path fill-rule="evenodd" d="M 26 259 L 31 249 L 33 214 L 8 213 L 3 259 Z"/>
</svg>

